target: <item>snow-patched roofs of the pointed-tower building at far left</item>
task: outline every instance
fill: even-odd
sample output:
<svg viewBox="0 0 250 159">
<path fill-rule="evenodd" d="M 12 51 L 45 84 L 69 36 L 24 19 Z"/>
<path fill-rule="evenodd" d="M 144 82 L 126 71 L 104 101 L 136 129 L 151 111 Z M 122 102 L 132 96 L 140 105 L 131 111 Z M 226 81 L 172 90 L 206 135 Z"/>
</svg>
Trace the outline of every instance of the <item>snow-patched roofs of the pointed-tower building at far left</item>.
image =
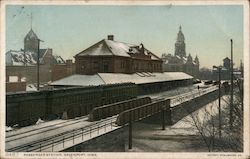
<svg viewBox="0 0 250 159">
<path fill-rule="evenodd" d="M 43 63 L 43 57 L 48 52 L 48 49 L 40 49 L 39 57 L 40 62 Z M 53 55 L 54 56 L 54 55 Z M 34 66 L 37 61 L 37 53 L 32 51 L 23 51 L 23 50 L 10 50 L 6 53 L 6 66 Z M 65 63 L 65 61 L 60 56 L 54 56 L 55 63 Z"/>
</svg>

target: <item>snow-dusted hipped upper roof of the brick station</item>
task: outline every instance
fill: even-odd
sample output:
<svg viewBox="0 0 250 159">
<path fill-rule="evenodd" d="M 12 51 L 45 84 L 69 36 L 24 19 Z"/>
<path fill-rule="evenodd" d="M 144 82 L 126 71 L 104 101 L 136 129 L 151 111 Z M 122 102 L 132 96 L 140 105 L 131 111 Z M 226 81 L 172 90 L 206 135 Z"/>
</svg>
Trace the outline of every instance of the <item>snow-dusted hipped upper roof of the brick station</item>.
<svg viewBox="0 0 250 159">
<path fill-rule="evenodd" d="M 140 53 L 139 46 L 128 44 L 124 42 L 118 42 L 114 40 L 103 39 L 91 47 L 78 53 L 76 56 L 123 56 L 130 57 L 129 53 Z M 145 55 L 150 55 L 151 59 L 160 60 L 158 56 L 151 51 L 145 49 Z"/>
</svg>

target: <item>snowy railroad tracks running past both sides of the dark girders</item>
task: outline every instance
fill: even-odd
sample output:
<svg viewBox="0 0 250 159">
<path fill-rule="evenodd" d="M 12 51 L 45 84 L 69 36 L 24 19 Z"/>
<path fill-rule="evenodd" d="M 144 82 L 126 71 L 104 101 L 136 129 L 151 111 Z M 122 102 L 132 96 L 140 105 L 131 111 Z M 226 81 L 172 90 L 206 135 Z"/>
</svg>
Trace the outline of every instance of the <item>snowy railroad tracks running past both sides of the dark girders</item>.
<svg viewBox="0 0 250 159">
<path fill-rule="evenodd" d="M 207 88 L 207 89 L 204 89 L 202 90 L 202 94 L 205 94 L 205 93 L 208 93 L 209 91 L 213 91 L 217 89 L 216 87 L 210 87 L 210 88 Z M 157 96 L 157 98 L 152 98 L 152 101 L 158 101 L 158 100 L 161 100 L 163 98 L 171 98 L 172 100 L 176 100 L 176 102 L 183 102 L 183 99 L 188 99 L 187 97 L 191 98 L 194 96 L 194 94 L 199 94 L 201 95 L 198 90 L 194 90 L 192 92 L 187 92 L 187 93 L 183 93 L 183 94 L 179 94 L 179 95 L 174 95 L 174 96 L 168 96 L 168 95 L 161 95 L 161 96 Z M 188 99 L 189 100 L 189 99 Z M 45 126 L 45 127 L 42 127 L 42 128 L 39 128 L 39 129 L 36 129 L 36 130 L 30 130 L 30 131 L 26 131 L 26 132 L 23 132 L 21 134 L 15 134 L 15 135 L 9 135 L 6 137 L 6 143 L 9 143 L 11 141 L 14 141 L 14 140 L 18 140 L 18 139 L 22 139 L 22 138 L 25 138 L 25 137 L 28 137 L 30 135 L 24 135 L 24 136 L 21 136 L 19 138 L 15 138 L 16 136 L 20 136 L 20 135 L 23 135 L 27 132 L 34 132 L 33 135 L 36 135 L 38 133 L 45 133 L 45 132 L 48 132 L 48 131 L 51 131 L 51 130 L 54 130 L 54 129 L 58 129 L 60 127 L 65 127 L 67 125 L 72 125 L 72 122 L 73 124 L 77 124 L 77 123 L 80 123 L 82 122 L 83 120 L 85 120 L 87 118 L 87 116 L 84 116 L 82 118 L 80 118 L 79 120 L 76 120 L 76 121 L 65 121 L 63 122 L 64 124 L 62 123 L 58 123 L 56 125 L 61 125 L 61 126 L 55 126 L 54 128 L 51 128 L 51 129 L 46 129 L 46 128 L 49 128 L 51 127 L 50 126 Z M 30 142 L 30 143 L 27 143 L 27 144 L 23 144 L 23 145 L 20 145 L 20 146 L 16 146 L 16 147 L 12 147 L 12 148 L 9 148 L 7 149 L 6 151 L 14 151 L 14 152 L 28 152 L 28 151 L 43 151 L 43 150 L 47 150 L 48 147 L 50 147 L 52 145 L 52 150 L 53 150 L 53 145 L 56 145 L 60 142 L 64 142 L 64 140 L 67 140 L 67 139 L 71 139 L 72 140 L 72 134 L 73 136 L 79 136 L 79 135 L 86 135 L 86 134 L 91 134 L 91 131 L 99 131 L 99 128 L 100 127 L 105 127 L 107 124 L 111 124 L 111 127 L 112 127 L 112 124 L 114 124 L 115 120 L 117 118 L 117 115 L 113 116 L 113 117 L 109 117 L 107 119 L 103 119 L 101 121 L 96 121 L 94 122 L 93 124 L 90 124 L 90 125 L 85 125 L 84 127 L 81 127 L 81 128 L 77 128 L 77 129 L 74 129 L 74 130 L 68 130 L 68 131 L 65 131 L 65 132 L 62 132 L 60 134 L 57 134 L 57 135 L 53 135 L 53 136 L 49 136 L 49 137 L 46 137 L 46 138 L 43 138 L 43 139 L 40 139 L 40 140 L 37 140 L 37 141 L 33 141 L 33 142 Z M 52 125 L 54 126 L 54 125 Z M 115 126 L 115 125 L 113 125 Z M 37 133 L 37 130 L 42 130 L 40 132 Z M 74 141 L 74 137 L 73 137 L 73 141 Z"/>
</svg>

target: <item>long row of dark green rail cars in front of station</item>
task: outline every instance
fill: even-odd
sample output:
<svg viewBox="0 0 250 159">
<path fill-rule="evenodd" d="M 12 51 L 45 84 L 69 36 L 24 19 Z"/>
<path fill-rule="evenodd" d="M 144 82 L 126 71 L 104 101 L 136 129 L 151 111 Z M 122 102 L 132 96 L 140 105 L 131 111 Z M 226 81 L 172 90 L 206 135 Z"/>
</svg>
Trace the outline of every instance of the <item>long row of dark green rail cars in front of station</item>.
<svg viewBox="0 0 250 159">
<path fill-rule="evenodd" d="M 38 118 L 51 120 L 67 112 L 68 118 L 89 114 L 97 106 L 137 96 L 134 83 L 9 93 L 6 95 L 6 125 L 26 126 Z"/>
</svg>

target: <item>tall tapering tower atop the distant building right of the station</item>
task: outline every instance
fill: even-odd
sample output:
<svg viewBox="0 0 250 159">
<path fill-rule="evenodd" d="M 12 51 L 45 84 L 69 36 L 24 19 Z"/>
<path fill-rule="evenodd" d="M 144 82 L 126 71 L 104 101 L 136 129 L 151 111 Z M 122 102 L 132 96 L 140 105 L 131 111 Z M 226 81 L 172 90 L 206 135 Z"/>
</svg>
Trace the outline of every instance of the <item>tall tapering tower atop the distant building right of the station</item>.
<svg viewBox="0 0 250 159">
<path fill-rule="evenodd" d="M 181 26 L 179 27 L 177 40 L 175 43 L 175 56 L 186 57 L 185 37 L 182 33 Z"/>
</svg>

